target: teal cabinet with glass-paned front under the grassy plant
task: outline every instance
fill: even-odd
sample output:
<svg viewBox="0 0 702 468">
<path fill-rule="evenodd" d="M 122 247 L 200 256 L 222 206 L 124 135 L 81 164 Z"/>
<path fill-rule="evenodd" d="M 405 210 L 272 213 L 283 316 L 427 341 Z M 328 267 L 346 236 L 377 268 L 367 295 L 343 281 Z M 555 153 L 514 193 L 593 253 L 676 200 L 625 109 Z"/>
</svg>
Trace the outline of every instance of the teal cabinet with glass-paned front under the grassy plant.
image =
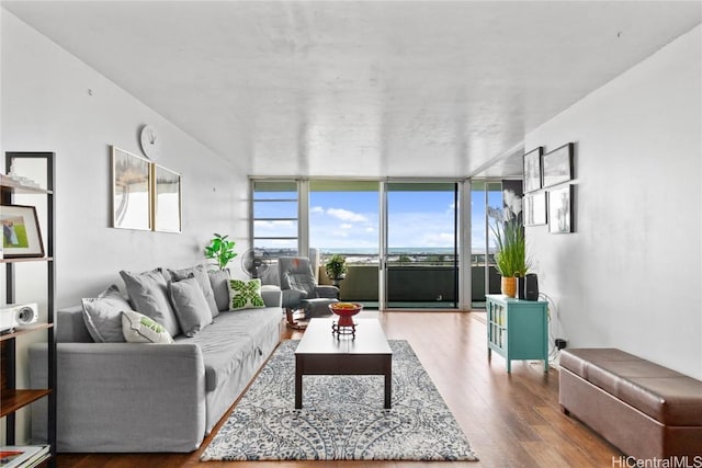
<svg viewBox="0 0 702 468">
<path fill-rule="evenodd" d="M 507 361 L 508 373 L 512 359 L 543 359 L 548 372 L 548 303 L 486 297 L 488 359 L 495 351 Z"/>
</svg>

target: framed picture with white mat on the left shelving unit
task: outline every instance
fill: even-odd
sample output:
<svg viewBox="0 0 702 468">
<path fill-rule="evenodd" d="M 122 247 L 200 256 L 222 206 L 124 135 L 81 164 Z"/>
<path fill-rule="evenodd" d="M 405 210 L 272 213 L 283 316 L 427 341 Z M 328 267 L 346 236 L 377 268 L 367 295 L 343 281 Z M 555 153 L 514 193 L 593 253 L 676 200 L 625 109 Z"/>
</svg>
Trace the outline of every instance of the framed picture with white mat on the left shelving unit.
<svg viewBox="0 0 702 468">
<path fill-rule="evenodd" d="M 42 230 L 34 206 L 0 205 L 0 222 L 5 259 L 44 256 Z"/>
</svg>

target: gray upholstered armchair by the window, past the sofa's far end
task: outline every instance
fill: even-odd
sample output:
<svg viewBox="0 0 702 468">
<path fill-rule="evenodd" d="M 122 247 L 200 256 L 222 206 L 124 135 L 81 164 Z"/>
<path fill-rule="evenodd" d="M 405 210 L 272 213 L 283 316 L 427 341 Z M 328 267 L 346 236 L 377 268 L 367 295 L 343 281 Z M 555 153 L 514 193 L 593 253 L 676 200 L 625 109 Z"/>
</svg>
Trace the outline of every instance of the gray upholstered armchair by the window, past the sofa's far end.
<svg viewBox="0 0 702 468">
<path fill-rule="evenodd" d="M 293 312 L 298 309 L 304 309 L 305 319 L 331 313 L 328 306 L 339 300 L 339 288 L 318 285 L 309 259 L 281 256 L 278 259 L 278 272 L 290 327 L 304 328 L 293 318 Z"/>
</svg>

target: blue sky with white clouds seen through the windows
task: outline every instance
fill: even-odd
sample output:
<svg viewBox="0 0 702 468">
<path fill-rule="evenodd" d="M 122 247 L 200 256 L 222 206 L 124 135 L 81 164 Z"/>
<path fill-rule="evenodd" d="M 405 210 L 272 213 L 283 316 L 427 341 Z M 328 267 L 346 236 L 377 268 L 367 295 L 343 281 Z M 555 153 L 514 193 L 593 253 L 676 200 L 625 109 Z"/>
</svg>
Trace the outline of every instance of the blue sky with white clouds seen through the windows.
<svg viewBox="0 0 702 468">
<path fill-rule="evenodd" d="M 291 198 L 295 194 L 271 198 Z M 473 202 L 473 250 L 484 251 L 484 198 Z M 501 205 L 501 193 L 490 204 Z M 296 218 L 296 202 L 257 203 L 254 217 Z M 320 250 L 375 249 L 378 246 L 377 192 L 316 192 L 309 194 L 309 246 Z M 296 220 L 257 221 L 256 237 L 297 233 Z M 294 242 L 268 241 L 270 247 L 294 247 Z M 454 194 L 442 192 L 388 192 L 388 247 L 452 248 L 454 246 Z"/>
</svg>

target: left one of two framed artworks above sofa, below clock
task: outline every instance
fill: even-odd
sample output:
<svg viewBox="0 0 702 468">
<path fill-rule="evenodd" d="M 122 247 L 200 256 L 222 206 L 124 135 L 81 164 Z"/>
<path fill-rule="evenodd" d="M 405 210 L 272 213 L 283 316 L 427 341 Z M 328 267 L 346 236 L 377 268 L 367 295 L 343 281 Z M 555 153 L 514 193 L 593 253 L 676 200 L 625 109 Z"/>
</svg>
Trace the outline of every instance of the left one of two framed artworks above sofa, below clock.
<svg viewBox="0 0 702 468">
<path fill-rule="evenodd" d="M 151 229 L 151 162 L 112 147 L 112 226 Z"/>
</svg>

